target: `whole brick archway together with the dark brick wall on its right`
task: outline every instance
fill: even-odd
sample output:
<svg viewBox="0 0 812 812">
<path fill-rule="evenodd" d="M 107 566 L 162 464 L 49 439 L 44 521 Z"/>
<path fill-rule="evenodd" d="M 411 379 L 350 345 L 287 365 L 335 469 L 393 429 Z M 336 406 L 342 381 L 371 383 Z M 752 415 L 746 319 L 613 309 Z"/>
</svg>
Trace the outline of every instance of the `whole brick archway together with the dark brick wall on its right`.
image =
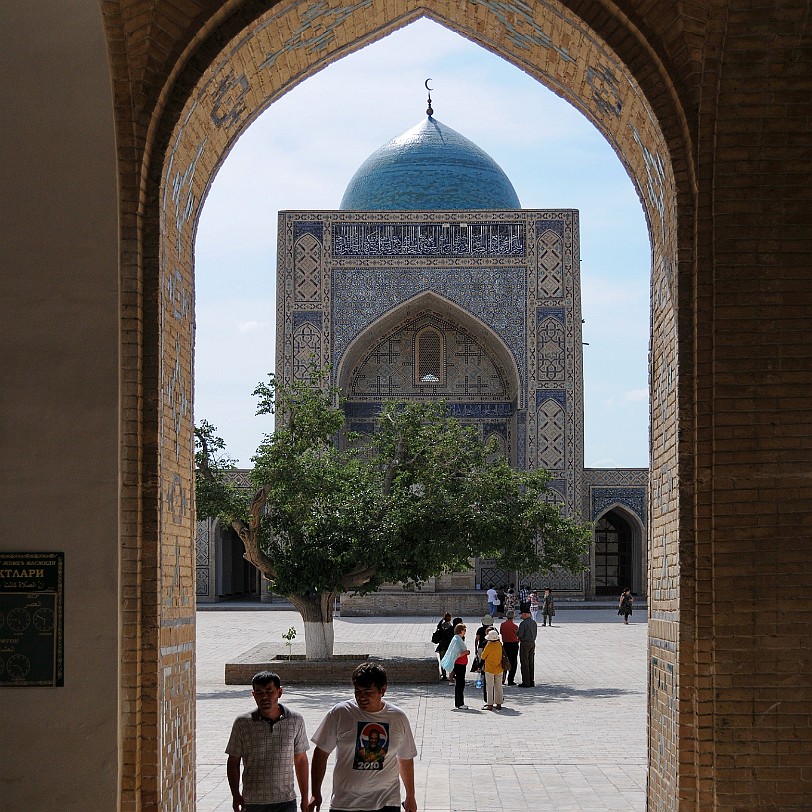
<svg viewBox="0 0 812 812">
<path fill-rule="evenodd" d="M 258 112 L 421 15 L 569 99 L 646 209 L 649 808 L 809 808 L 808 0 L 325 0 L 310 16 L 309 2 L 100 5 L 121 212 L 121 808 L 194 808 L 192 250 L 205 191 Z"/>
</svg>

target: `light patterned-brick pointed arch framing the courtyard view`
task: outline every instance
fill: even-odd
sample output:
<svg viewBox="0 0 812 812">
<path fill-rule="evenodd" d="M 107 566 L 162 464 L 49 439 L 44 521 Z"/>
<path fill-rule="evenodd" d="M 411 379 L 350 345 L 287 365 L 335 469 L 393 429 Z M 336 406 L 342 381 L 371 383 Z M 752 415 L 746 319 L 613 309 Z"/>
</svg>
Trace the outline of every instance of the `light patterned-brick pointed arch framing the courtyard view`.
<svg viewBox="0 0 812 812">
<path fill-rule="evenodd" d="M 144 511 L 140 550 L 148 585 L 140 599 L 148 620 L 142 622 L 140 641 L 124 640 L 124 648 L 137 656 L 125 658 L 122 674 L 130 686 L 125 698 L 136 685 L 155 697 L 154 729 L 135 710 L 123 717 L 142 777 L 155 786 L 165 808 L 170 801 L 171 808 L 194 804 L 193 737 L 181 731 L 194 727 L 191 400 L 197 219 L 231 146 L 275 99 L 341 56 L 422 16 L 498 53 L 577 107 L 612 144 L 643 201 L 652 243 L 651 468 L 656 472 L 648 552 L 650 611 L 656 618 L 649 637 L 651 808 L 676 808 L 680 785 L 693 780 L 695 765 L 681 758 L 677 747 L 678 739 L 692 735 L 692 719 L 677 714 L 679 675 L 688 668 L 680 621 L 690 604 L 680 591 L 680 547 L 691 543 L 684 528 L 692 521 L 679 500 L 678 477 L 678 454 L 690 455 L 690 449 L 678 449 L 676 431 L 683 340 L 677 332 L 677 268 L 693 263 L 691 241 L 678 239 L 677 215 L 680 205 L 690 208 L 692 202 L 691 150 L 672 82 L 640 32 L 628 23 L 619 28 L 606 12 L 587 22 L 571 10 L 576 6 L 552 0 L 420 6 L 328 0 L 283 2 L 268 10 L 249 3 L 241 17 L 211 22 L 208 36 L 190 46 L 183 69 L 165 88 L 163 114 L 151 122 L 153 149 L 145 170 L 139 369 L 147 428 L 134 441 L 143 454 L 145 481 L 151 483 L 146 503 L 151 500 L 157 509 Z M 622 47 L 625 59 L 610 48 L 610 39 Z M 647 98 L 656 100 L 656 109 Z M 131 282 L 137 288 L 137 280 Z M 690 323 L 687 306 L 680 317 Z M 139 317 L 125 317 L 124 329 L 140 330 Z"/>
</svg>

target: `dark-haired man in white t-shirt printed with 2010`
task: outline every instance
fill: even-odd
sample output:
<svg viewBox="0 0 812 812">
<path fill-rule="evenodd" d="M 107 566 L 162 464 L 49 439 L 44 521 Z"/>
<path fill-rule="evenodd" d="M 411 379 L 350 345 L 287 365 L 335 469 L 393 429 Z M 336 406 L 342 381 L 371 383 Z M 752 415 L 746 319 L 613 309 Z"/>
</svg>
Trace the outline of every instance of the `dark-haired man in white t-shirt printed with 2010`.
<svg viewBox="0 0 812 812">
<path fill-rule="evenodd" d="M 385 702 L 386 669 L 362 663 L 352 674 L 355 699 L 340 702 L 311 737 L 310 812 L 321 808 L 327 759 L 336 751 L 330 812 L 416 812 L 414 757 L 417 747 L 406 714 Z"/>
</svg>

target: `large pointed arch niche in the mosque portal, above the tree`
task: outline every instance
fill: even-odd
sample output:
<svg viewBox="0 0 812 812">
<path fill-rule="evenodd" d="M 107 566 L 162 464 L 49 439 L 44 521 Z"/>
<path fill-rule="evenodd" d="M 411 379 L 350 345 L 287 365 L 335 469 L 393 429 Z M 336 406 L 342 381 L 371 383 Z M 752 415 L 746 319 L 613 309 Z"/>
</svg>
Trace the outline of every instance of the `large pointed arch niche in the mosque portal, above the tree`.
<svg viewBox="0 0 812 812">
<path fill-rule="evenodd" d="M 389 399 L 445 400 L 483 437 L 496 434 L 515 463 L 519 374 L 504 342 L 435 293 L 394 308 L 358 335 L 339 362 L 347 425 L 368 434 Z"/>
</svg>

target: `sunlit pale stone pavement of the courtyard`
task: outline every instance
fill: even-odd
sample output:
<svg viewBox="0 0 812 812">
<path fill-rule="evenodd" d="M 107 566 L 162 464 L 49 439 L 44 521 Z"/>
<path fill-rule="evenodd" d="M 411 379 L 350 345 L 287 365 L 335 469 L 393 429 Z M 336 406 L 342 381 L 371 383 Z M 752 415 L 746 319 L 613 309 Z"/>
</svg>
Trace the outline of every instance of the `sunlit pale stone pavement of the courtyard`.
<svg viewBox="0 0 812 812">
<path fill-rule="evenodd" d="M 629 626 L 611 609 L 566 610 L 539 627 L 536 688 L 505 687 L 501 713 L 481 710 L 481 691 L 466 688 L 469 711 L 452 710 L 453 687 L 390 685 L 387 699 L 412 720 L 418 809 L 423 812 L 644 812 L 646 807 L 646 617 Z M 465 618 L 472 634 L 479 618 Z M 396 647 L 431 654 L 434 618 L 336 618 L 336 644 L 371 652 Z M 498 621 L 497 621 L 498 623 Z M 249 686 L 226 686 L 227 660 L 263 641 L 304 653 L 296 612 L 197 613 L 197 812 L 229 812 L 223 752 L 231 722 L 255 707 Z M 354 647 L 354 646 L 353 646 Z M 472 676 L 472 675 L 469 675 Z M 518 679 L 518 676 L 517 676 Z M 325 712 L 350 698 L 345 686 L 291 686 L 283 702 L 302 713 L 312 735 Z M 329 798 L 332 758 L 324 787 Z"/>
</svg>

